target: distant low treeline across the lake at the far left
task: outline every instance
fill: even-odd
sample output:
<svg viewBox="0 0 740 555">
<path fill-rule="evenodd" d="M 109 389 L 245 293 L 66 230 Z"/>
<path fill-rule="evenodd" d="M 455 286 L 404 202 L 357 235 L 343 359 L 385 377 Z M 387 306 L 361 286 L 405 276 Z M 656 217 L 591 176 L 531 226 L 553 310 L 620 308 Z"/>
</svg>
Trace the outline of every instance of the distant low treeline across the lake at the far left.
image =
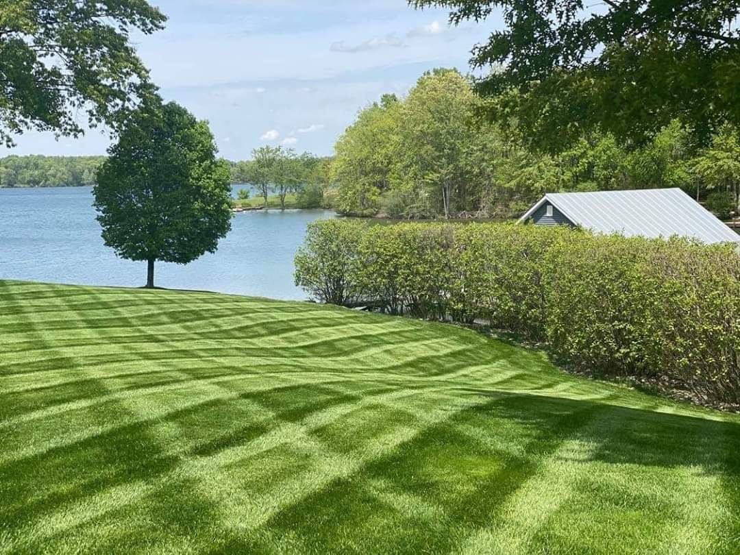
<svg viewBox="0 0 740 555">
<path fill-rule="evenodd" d="M 90 186 L 104 160 L 104 156 L 6 156 L 0 158 L 0 186 Z"/>
</svg>

